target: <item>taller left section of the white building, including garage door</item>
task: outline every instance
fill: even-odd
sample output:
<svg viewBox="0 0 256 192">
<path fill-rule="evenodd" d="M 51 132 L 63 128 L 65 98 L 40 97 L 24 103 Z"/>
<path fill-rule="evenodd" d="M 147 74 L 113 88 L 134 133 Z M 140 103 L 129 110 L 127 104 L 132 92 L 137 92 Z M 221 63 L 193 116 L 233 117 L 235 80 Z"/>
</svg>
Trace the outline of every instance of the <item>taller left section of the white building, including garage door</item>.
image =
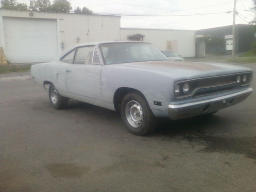
<svg viewBox="0 0 256 192">
<path fill-rule="evenodd" d="M 11 63 L 48 62 L 75 43 L 120 40 L 120 17 L 0 10 L 0 47 Z"/>
</svg>

